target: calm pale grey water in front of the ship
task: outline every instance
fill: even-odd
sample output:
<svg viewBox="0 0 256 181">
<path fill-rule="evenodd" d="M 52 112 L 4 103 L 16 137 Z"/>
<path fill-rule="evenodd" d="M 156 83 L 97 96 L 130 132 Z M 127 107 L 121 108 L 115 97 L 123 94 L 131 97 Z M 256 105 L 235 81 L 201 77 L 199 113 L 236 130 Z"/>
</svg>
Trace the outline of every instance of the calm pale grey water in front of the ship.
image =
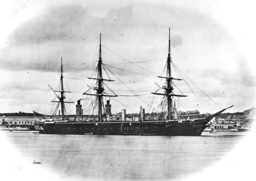
<svg viewBox="0 0 256 181">
<path fill-rule="evenodd" d="M 44 135 L 3 131 L 31 162 L 36 159 L 66 178 L 170 179 L 201 172 L 218 162 L 245 133 L 202 136 Z"/>
</svg>

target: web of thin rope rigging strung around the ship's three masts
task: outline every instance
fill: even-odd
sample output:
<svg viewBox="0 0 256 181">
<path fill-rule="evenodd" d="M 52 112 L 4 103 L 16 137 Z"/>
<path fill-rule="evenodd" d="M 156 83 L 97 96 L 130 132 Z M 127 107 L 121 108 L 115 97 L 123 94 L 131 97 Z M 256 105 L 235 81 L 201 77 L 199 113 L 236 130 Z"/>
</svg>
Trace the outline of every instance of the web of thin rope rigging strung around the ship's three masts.
<svg viewBox="0 0 256 181">
<path fill-rule="evenodd" d="M 170 30 L 169 30 L 170 31 Z M 100 40 L 99 40 L 100 41 Z M 156 60 L 159 60 L 159 59 L 161 59 L 162 60 L 162 58 L 155 58 L 155 59 L 151 59 L 151 60 L 144 60 L 144 61 L 130 61 L 129 59 L 127 59 L 127 58 L 124 58 L 123 56 L 120 56 L 118 53 L 115 53 L 114 51 L 112 51 L 112 50 L 110 50 L 109 48 L 107 48 L 107 47 L 105 47 L 104 45 L 101 45 L 101 43 L 100 43 L 100 48 L 98 48 L 98 45 L 99 45 L 99 41 L 98 41 L 98 44 L 97 44 L 97 48 L 96 48 L 96 51 L 95 51 L 95 55 L 94 55 L 94 60 L 95 61 L 93 61 L 92 62 L 92 66 L 89 66 L 89 65 L 87 65 L 86 67 L 83 67 L 83 68 L 80 68 L 80 69 L 78 69 L 78 70 L 75 70 L 75 71 L 73 71 L 72 70 L 72 68 L 70 68 L 69 66 L 70 65 L 74 65 L 74 64 L 65 64 L 65 65 L 63 65 L 63 67 L 65 67 L 66 69 L 68 69 L 68 70 L 70 70 L 70 71 L 73 71 L 70 75 L 75 75 L 75 74 L 80 74 L 80 72 L 82 72 L 82 71 L 87 71 L 87 70 L 91 70 L 90 71 L 90 78 L 92 78 L 92 79 L 98 79 L 97 80 L 97 82 L 96 82 L 96 86 L 94 86 L 95 84 L 90 84 L 90 86 L 89 86 L 89 89 L 87 89 L 86 90 L 86 92 L 85 93 L 88 93 L 87 95 L 89 96 L 89 98 L 88 99 L 80 99 L 80 100 L 85 100 L 84 101 L 84 104 L 86 104 L 86 106 L 84 106 L 83 107 L 83 110 L 84 111 L 92 111 L 92 114 L 94 114 L 95 113 L 95 111 L 97 111 L 97 106 L 100 106 L 101 108 L 100 109 L 102 109 L 102 115 L 104 116 L 105 115 L 105 106 L 104 106 L 104 103 L 103 103 L 103 97 L 102 96 L 107 96 L 108 94 L 104 91 L 105 89 L 104 89 L 104 86 L 106 86 L 106 88 L 107 89 L 109 89 L 110 90 L 110 92 L 112 92 L 112 94 L 114 94 L 115 96 L 120 96 L 120 97 L 138 97 L 141 101 L 143 101 L 144 103 L 146 103 L 147 104 L 147 109 L 148 110 L 150 110 L 150 109 L 152 109 L 152 114 L 154 113 L 156 113 L 156 112 L 159 112 L 160 114 L 161 114 L 161 117 L 164 117 L 164 115 L 166 116 L 166 114 L 167 114 L 167 106 L 169 106 L 169 105 L 171 105 L 171 106 L 173 106 L 172 104 L 173 104 L 173 102 L 178 102 L 178 106 L 181 106 L 183 109 L 185 109 L 185 110 L 189 110 L 188 109 L 188 107 L 187 107 L 187 104 L 185 104 L 184 102 L 182 102 L 181 100 L 176 100 L 175 98 L 173 98 L 173 100 L 171 100 L 171 103 L 170 103 L 170 97 L 171 96 L 180 96 L 181 97 L 181 95 L 174 95 L 173 94 L 173 92 L 172 91 L 170 91 L 170 92 L 167 92 L 168 94 L 166 94 L 166 95 L 164 95 L 164 94 L 159 94 L 158 93 L 158 95 L 164 95 L 164 97 L 161 99 L 161 100 L 159 100 L 158 99 L 158 97 L 159 96 L 156 96 L 156 95 L 153 95 L 153 97 L 148 97 L 148 98 L 152 98 L 152 101 L 150 102 L 150 103 L 147 103 L 147 101 L 145 101 L 144 99 L 142 99 L 142 97 L 144 96 L 147 96 L 147 95 L 152 95 L 151 93 L 144 93 L 144 94 L 136 94 L 135 93 L 135 90 L 133 90 L 133 89 L 131 89 L 127 84 L 125 84 L 124 83 L 124 81 L 122 81 L 117 75 L 115 75 L 115 73 L 113 72 L 114 70 L 116 70 L 116 71 L 121 71 L 121 72 L 128 72 L 128 73 L 130 73 L 130 74 L 132 74 L 132 75 L 138 75 L 138 76 L 144 76 L 144 77 L 156 77 L 157 75 L 154 73 L 154 72 L 151 72 L 150 70 L 148 70 L 147 68 L 144 68 L 144 67 L 142 67 L 142 66 L 140 66 L 140 65 L 138 65 L 139 63 L 144 63 L 144 62 L 150 62 L 150 61 L 156 61 Z M 169 41 L 170 41 L 170 32 L 169 32 Z M 100 41 L 101 42 L 101 41 Z M 118 57 L 120 57 L 123 61 L 126 61 L 126 62 L 116 62 L 116 63 L 109 63 L 109 64 L 103 64 L 102 62 L 100 62 L 100 63 L 98 63 L 99 61 L 102 61 L 102 59 L 101 59 L 101 46 L 102 47 L 104 47 L 106 50 L 108 50 L 109 52 L 111 52 L 111 53 L 113 53 L 113 54 L 115 54 L 116 56 L 118 56 Z M 170 49 L 170 42 L 169 42 L 169 49 Z M 99 56 L 99 61 L 96 61 L 96 57 L 97 56 Z M 169 54 L 168 54 L 168 57 L 170 58 L 170 50 L 169 50 Z M 165 57 L 166 58 L 166 57 Z M 168 60 L 167 60 L 168 61 Z M 146 73 L 144 72 L 144 71 L 133 71 L 133 70 L 129 70 L 129 69 L 127 69 L 127 68 L 120 68 L 120 67 L 115 67 L 115 65 L 122 65 L 122 64 L 124 64 L 124 65 L 126 65 L 126 64 L 132 64 L 132 65 L 135 65 L 136 67 L 139 67 L 140 68 L 140 70 L 144 70 L 144 71 L 146 71 Z M 100 68 L 99 67 L 102 67 L 102 70 L 100 70 Z M 160 66 L 158 66 L 158 67 L 160 67 Z M 161 72 L 161 75 L 162 76 L 164 76 L 164 77 L 160 77 L 161 79 L 160 79 L 160 83 L 159 84 L 156 84 L 157 86 L 158 86 L 158 88 L 159 89 L 157 89 L 156 91 L 155 91 L 155 93 L 156 92 L 158 92 L 160 89 L 161 90 L 163 90 L 164 88 L 164 86 L 162 86 L 162 88 L 161 88 L 161 86 L 160 85 L 163 85 L 163 83 L 162 83 L 162 81 L 163 80 L 165 80 L 165 79 L 163 79 L 163 78 L 169 78 L 168 80 L 169 81 L 166 81 L 164 84 L 167 84 L 167 83 L 170 83 L 170 80 L 171 80 L 171 83 L 169 84 L 169 86 L 171 85 L 171 88 L 173 89 L 173 86 L 175 86 L 175 88 L 176 89 L 178 89 L 178 91 L 179 92 L 181 92 L 181 90 L 172 82 L 172 80 L 173 79 L 175 79 L 175 78 L 172 78 L 171 77 L 171 74 L 170 74 L 170 69 L 171 69 L 171 67 L 172 67 L 172 69 L 175 71 L 175 73 L 178 75 L 178 77 L 181 77 L 183 80 L 184 80 L 184 82 L 185 82 L 185 84 L 187 84 L 187 86 L 189 87 L 189 89 L 190 89 L 190 91 L 193 93 L 193 95 L 195 95 L 195 97 L 197 98 L 197 100 L 198 100 L 198 102 L 200 103 L 200 105 L 202 106 L 202 108 L 204 109 L 204 105 L 201 103 L 201 101 L 199 100 L 199 98 L 198 98 L 198 96 L 195 94 L 195 92 L 191 89 L 191 87 L 190 87 L 190 85 L 188 84 L 188 82 L 184 79 L 184 78 L 187 78 L 189 81 L 190 81 L 190 83 L 192 83 L 194 86 L 196 86 L 183 72 L 181 72 L 181 70 L 175 65 L 175 64 L 173 64 L 173 62 L 171 61 L 171 59 L 170 59 L 170 62 L 169 62 L 169 65 L 168 65 L 168 67 L 167 67 L 167 64 L 165 64 L 164 65 L 164 69 L 163 69 L 163 71 Z M 98 71 L 97 71 L 98 70 Z M 100 72 L 99 72 L 99 70 L 100 70 Z M 159 70 L 159 69 L 158 69 Z M 62 69 L 60 70 L 60 67 L 59 67 L 59 70 L 58 71 L 61 71 L 62 72 Z M 168 71 L 169 71 L 169 77 L 167 76 L 168 75 Z M 128 94 L 116 94 L 112 89 L 110 89 L 109 88 L 109 86 L 107 86 L 103 81 L 108 81 L 108 80 L 106 80 L 106 79 L 103 79 L 103 77 L 104 77 L 104 75 L 102 74 L 102 73 L 105 73 L 106 75 L 105 75 L 105 77 L 107 76 L 108 78 L 109 78 L 109 80 L 110 81 L 112 81 L 111 80 L 111 78 L 110 78 L 110 76 L 109 76 L 109 73 L 108 72 L 110 72 L 112 75 L 114 75 L 115 76 L 115 78 L 117 78 L 124 86 L 126 86 L 127 88 L 128 88 L 128 90 L 117 90 L 117 91 L 130 91 L 130 92 L 132 92 L 134 95 L 128 95 Z M 84 76 L 84 75 L 83 75 Z M 167 76 L 167 77 L 166 77 Z M 84 76 L 85 77 L 85 76 Z M 159 76 L 158 76 L 159 77 Z M 75 80 L 84 80 L 84 78 L 77 78 L 77 77 L 65 77 L 65 78 L 67 78 L 67 79 L 75 79 Z M 101 81 L 100 81 L 101 80 Z M 176 78 L 176 80 L 178 80 L 177 78 Z M 98 89 L 97 89 L 97 84 L 98 84 Z M 101 85 L 101 86 L 99 86 L 99 85 Z M 103 86 L 104 85 L 104 86 Z M 172 86 L 173 85 L 173 86 Z M 60 84 L 60 82 L 59 82 L 59 85 L 58 85 L 58 88 L 60 89 L 60 87 L 61 87 L 61 84 Z M 66 86 L 67 87 L 67 86 Z M 93 87 L 93 88 L 92 88 Z M 98 91 L 100 88 L 101 88 L 101 92 L 100 91 Z M 81 89 L 83 89 L 84 88 L 84 86 L 81 88 Z M 198 86 L 196 86 L 196 88 L 197 89 L 199 89 L 198 88 Z M 67 89 L 68 89 L 68 87 L 67 87 Z M 81 91 L 81 89 L 79 89 L 79 91 L 78 92 L 80 92 Z M 165 88 L 166 89 L 166 88 Z M 169 87 L 169 89 L 170 89 L 170 87 Z M 169 90 L 168 89 L 168 90 Z M 69 89 L 68 89 L 69 90 Z M 91 94 L 91 95 L 89 95 L 89 93 L 91 93 L 92 91 L 95 91 L 95 90 L 97 90 L 97 93 L 96 94 Z M 136 91 L 145 91 L 145 90 L 136 90 Z M 211 99 L 205 92 L 203 92 L 201 89 L 199 89 L 199 91 L 202 93 L 202 94 L 204 94 L 206 97 L 208 97 L 213 103 L 215 103 L 217 106 L 219 106 L 221 109 L 222 109 L 222 107 L 218 104 L 218 103 L 216 103 L 213 99 Z M 107 91 L 108 92 L 108 91 Z M 93 92 L 92 92 L 93 93 Z M 105 95 L 104 95 L 104 94 Z M 171 94 L 173 94 L 173 95 L 171 95 Z M 184 94 L 183 94 L 183 92 L 181 92 L 181 94 L 184 96 Z M 97 95 L 98 97 L 96 97 L 96 99 L 93 99 L 92 98 L 92 95 Z M 113 95 L 109 95 L 109 96 L 113 96 Z M 58 96 L 57 96 L 58 97 Z M 74 96 L 73 96 L 74 97 Z M 73 98 L 72 97 L 72 98 Z M 167 100 L 167 97 L 169 97 L 169 99 Z M 69 100 L 71 100 L 69 97 L 67 97 Z M 129 106 L 127 106 L 126 104 L 124 104 L 124 103 L 121 103 L 119 100 L 116 100 L 114 97 L 113 97 L 113 99 L 117 102 L 117 103 L 120 103 L 122 106 L 124 106 L 124 107 L 126 107 L 127 109 L 129 109 L 129 110 L 132 110 L 132 111 L 134 111 L 134 112 L 136 112 L 134 109 L 132 109 L 132 108 L 129 108 Z M 72 101 L 72 100 L 71 100 Z M 159 103 L 159 101 L 160 101 L 160 103 Z M 169 103 L 167 103 L 167 101 L 169 101 Z M 155 108 L 153 108 L 152 106 L 153 105 L 157 105 Z M 60 106 L 60 103 L 57 103 L 57 105 L 56 105 L 56 107 L 55 107 L 55 109 L 53 109 L 53 114 L 56 114 L 56 112 L 58 111 L 58 107 Z M 68 106 L 69 107 L 69 106 Z M 64 109 L 64 111 L 66 112 L 66 109 L 68 109 L 68 108 L 65 108 L 65 107 L 63 107 L 63 109 Z M 172 108 L 171 108 L 172 109 Z M 69 109 L 68 109 L 69 110 Z M 70 110 L 69 110 L 70 111 Z M 100 112 L 100 111 L 99 111 Z M 170 114 L 170 112 L 171 112 L 171 115 L 174 115 L 173 114 L 173 111 L 169 111 L 169 108 L 168 108 L 168 112 L 169 112 L 169 114 Z M 96 113 L 97 114 L 97 113 Z M 106 115 L 105 115 L 106 116 Z"/>
</svg>

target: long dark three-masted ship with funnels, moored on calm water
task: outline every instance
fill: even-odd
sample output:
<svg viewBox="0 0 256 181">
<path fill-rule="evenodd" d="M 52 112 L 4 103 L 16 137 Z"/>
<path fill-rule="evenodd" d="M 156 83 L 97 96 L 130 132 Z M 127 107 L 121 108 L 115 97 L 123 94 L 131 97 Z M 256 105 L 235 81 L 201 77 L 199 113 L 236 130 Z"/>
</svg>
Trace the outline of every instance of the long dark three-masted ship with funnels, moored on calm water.
<svg viewBox="0 0 256 181">
<path fill-rule="evenodd" d="M 200 136 L 202 131 L 211 124 L 211 120 L 219 116 L 223 111 L 229 109 L 229 106 L 222 109 L 214 114 L 210 114 L 204 118 L 198 119 L 177 119 L 174 114 L 174 103 L 173 97 L 187 97 L 187 95 L 178 95 L 173 92 L 174 86 L 173 81 L 181 81 L 181 78 L 173 78 L 171 74 L 171 56 L 170 56 L 170 28 L 169 28 L 169 47 L 168 56 L 166 61 L 166 74 L 164 76 L 158 76 L 158 78 L 165 80 L 165 85 L 159 87 L 163 93 L 151 92 L 152 95 L 163 96 L 166 101 L 165 106 L 167 111 L 165 117 L 161 117 L 158 120 L 145 119 L 144 109 L 140 109 L 140 116 L 138 121 L 127 121 L 127 120 L 107 120 L 103 97 L 118 97 L 115 92 L 111 91 L 112 94 L 106 93 L 104 89 L 105 81 L 114 81 L 110 78 L 103 77 L 103 61 L 101 52 L 101 33 L 99 42 L 99 56 L 98 63 L 96 66 L 95 77 L 88 77 L 96 81 L 95 87 L 90 87 L 94 92 L 84 92 L 83 95 L 89 95 L 95 97 L 95 104 L 97 105 L 97 112 L 95 120 L 78 121 L 77 119 L 69 120 L 64 116 L 64 103 L 72 103 L 64 101 L 63 89 L 63 64 L 61 60 L 61 75 L 60 75 L 60 90 L 53 92 L 60 92 L 57 96 L 58 102 L 61 107 L 61 119 L 52 119 L 51 121 L 45 121 L 42 123 L 35 124 L 35 128 L 40 134 L 83 134 L 83 135 L 151 135 L 151 136 Z M 104 69 L 105 70 L 105 69 Z M 106 71 L 106 70 L 105 70 Z M 108 76 L 109 77 L 109 76 Z M 159 90 L 158 89 L 158 90 Z M 94 107 L 95 108 L 95 107 Z M 163 113 L 163 112 L 162 112 Z"/>
</svg>

